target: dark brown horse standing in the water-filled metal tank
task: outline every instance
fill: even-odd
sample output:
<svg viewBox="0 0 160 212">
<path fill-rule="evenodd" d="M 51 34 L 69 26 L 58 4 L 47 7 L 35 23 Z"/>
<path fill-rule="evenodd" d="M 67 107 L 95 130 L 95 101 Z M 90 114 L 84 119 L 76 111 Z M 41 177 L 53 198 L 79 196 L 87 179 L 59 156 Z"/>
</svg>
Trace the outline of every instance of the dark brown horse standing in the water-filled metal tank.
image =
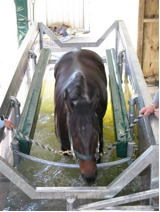
<svg viewBox="0 0 160 212">
<path fill-rule="evenodd" d="M 107 78 L 101 57 L 87 49 L 64 54 L 55 64 L 55 133 L 63 151 L 79 159 L 82 177 L 94 182 L 96 152 L 103 152 Z"/>
</svg>

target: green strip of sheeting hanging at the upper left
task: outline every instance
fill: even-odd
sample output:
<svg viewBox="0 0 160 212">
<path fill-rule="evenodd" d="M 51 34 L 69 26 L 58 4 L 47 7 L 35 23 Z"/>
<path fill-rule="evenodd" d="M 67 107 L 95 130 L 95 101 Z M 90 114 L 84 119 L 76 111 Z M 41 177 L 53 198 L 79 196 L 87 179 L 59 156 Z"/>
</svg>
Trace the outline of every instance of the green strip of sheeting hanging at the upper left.
<svg viewBox="0 0 160 212">
<path fill-rule="evenodd" d="M 28 31 L 28 7 L 27 0 L 14 0 L 17 16 L 17 36 L 19 46 Z"/>
</svg>

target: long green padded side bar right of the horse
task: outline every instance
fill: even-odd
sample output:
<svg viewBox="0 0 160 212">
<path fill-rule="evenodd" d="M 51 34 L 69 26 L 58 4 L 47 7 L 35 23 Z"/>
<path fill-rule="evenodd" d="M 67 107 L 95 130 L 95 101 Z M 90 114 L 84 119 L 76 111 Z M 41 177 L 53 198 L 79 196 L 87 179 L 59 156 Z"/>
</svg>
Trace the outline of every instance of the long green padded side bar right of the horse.
<svg viewBox="0 0 160 212">
<path fill-rule="evenodd" d="M 114 126 L 116 132 L 116 138 L 118 144 L 116 146 L 118 157 L 127 157 L 127 143 L 132 141 L 132 136 L 128 132 L 123 139 L 121 135 L 129 127 L 129 120 L 125 105 L 124 94 L 121 85 L 120 73 L 118 71 L 116 53 L 114 49 L 109 49 L 106 51 L 106 60 L 109 70 L 110 88 L 112 96 L 112 107 L 114 114 Z"/>
</svg>

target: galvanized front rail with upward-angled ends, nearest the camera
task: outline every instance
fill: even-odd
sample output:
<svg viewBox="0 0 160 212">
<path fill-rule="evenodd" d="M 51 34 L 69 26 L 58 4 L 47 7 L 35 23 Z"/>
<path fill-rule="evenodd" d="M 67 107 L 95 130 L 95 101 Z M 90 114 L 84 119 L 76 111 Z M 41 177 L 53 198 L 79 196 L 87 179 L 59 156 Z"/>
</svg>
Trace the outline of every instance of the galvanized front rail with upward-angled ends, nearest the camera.
<svg viewBox="0 0 160 212">
<path fill-rule="evenodd" d="M 151 165 L 154 186 L 158 187 L 158 146 L 148 148 L 107 187 L 33 187 L 16 169 L 0 157 L 0 172 L 31 199 L 108 199 L 113 198 L 146 167 Z M 152 168 L 153 167 L 153 168 Z M 153 188 L 154 189 L 154 188 Z M 157 195 L 157 190 L 156 191 Z M 141 194 L 141 196 L 143 196 Z M 145 192 L 144 192 L 145 197 Z M 153 197 L 150 192 L 147 198 Z M 124 198 L 121 198 L 124 203 Z M 120 204 L 120 203 L 119 203 Z"/>
</svg>

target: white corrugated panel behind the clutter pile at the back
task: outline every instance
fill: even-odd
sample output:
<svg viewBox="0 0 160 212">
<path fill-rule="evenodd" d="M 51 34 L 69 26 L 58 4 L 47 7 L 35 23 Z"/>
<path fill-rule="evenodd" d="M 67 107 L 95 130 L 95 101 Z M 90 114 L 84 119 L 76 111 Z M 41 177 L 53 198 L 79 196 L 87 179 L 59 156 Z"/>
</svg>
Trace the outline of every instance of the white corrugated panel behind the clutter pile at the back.
<svg viewBox="0 0 160 212">
<path fill-rule="evenodd" d="M 31 7 L 32 2 L 29 1 Z M 64 23 L 73 28 L 84 28 L 84 0 L 36 0 L 34 8 L 36 22 L 47 26 Z"/>
</svg>

